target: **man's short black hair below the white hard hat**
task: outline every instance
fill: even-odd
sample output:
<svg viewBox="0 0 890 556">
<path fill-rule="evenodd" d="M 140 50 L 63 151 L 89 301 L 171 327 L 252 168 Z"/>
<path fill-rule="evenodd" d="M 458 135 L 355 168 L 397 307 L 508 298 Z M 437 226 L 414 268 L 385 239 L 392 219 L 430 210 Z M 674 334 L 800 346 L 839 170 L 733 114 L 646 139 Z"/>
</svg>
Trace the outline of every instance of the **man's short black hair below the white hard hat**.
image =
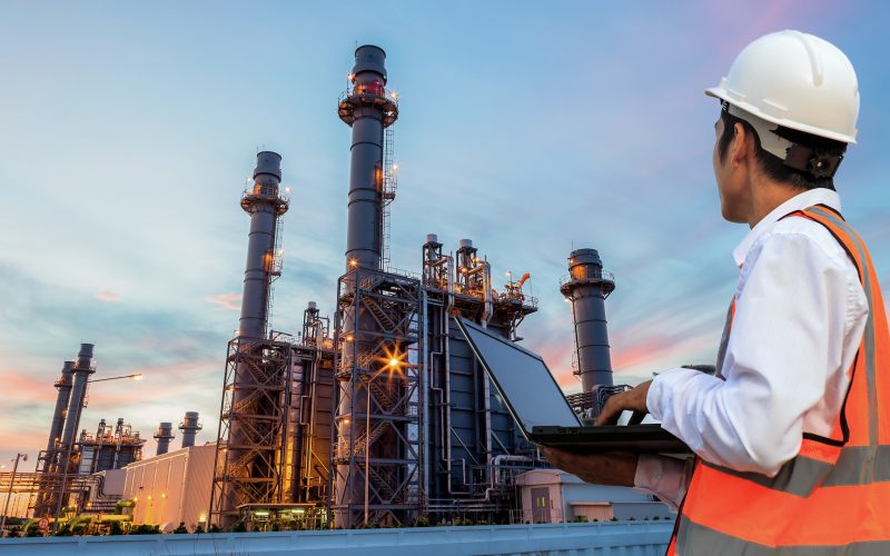
<svg viewBox="0 0 890 556">
<path fill-rule="evenodd" d="M 808 171 L 798 170 L 785 166 L 784 161 L 775 155 L 768 152 L 760 146 L 760 137 L 753 126 L 729 112 L 729 105 L 722 103 L 720 117 L 723 119 L 723 133 L 718 142 L 718 155 L 720 161 L 726 158 L 732 138 L 735 136 L 735 123 L 741 123 L 748 133 L 754 137 L 754 158 L 760 170 L 775 181 L 790 183 L 803 189 L 825 188 L 834 190 L 834 179 L 831 176 L 815 177 Z M 779 126 L 775 135 L 788 139 L 792 143 L 812 149 L 817 157 L 843 157 L 847 151 L 847 143 L 825 139 L 824 137 L 813 136 L 798 131 L 795 129 Z"/>
</svg>

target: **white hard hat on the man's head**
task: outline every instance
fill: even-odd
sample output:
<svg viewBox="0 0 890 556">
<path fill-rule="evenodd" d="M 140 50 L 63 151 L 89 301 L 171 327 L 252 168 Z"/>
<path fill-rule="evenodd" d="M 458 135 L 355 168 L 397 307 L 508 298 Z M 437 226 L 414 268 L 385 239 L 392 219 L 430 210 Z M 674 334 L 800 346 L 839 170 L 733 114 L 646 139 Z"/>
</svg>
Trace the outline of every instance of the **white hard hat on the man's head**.
<svg viewBox="0 0 890 556">
<path fill-rule="evenodd" d="M 800 31 L 756 39 L 729 76 L 704 91 L 758 118 L 835 141 L 856 142 L 859 85 L 834 44 Z"/>
</svg>

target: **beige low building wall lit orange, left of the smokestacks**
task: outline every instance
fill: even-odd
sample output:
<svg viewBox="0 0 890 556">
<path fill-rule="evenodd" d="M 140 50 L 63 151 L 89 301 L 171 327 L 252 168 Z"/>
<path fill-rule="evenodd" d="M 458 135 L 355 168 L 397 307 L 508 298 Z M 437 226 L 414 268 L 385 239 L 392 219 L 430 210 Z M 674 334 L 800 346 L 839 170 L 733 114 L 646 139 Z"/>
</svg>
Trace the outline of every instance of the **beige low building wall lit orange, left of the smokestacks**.
<svg viewBox="0 0 890 556">
<path fill-rule="evenodd" d="M 210 505 L 215 445 L 191 446 L 125 467 L 123 498 L 136 500 L 134 523 L 175 529 L 206 519 Z"/>
</svg>

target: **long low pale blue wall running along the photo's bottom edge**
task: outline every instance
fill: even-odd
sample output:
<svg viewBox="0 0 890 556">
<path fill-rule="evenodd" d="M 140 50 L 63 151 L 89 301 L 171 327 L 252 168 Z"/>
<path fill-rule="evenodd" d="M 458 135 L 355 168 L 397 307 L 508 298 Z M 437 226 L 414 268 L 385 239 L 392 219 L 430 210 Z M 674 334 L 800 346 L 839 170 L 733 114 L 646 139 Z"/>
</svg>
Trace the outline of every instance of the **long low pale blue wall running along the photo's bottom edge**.
<svg viewBox="0 0 890 556">
<path fill-rule="evenodd" d="M 661 556 L 672 522 L 500 525 L 404 529 L 50 537 L 0 540 L 7 554 L 453 556 L 455 554 Z"/>
</svg>

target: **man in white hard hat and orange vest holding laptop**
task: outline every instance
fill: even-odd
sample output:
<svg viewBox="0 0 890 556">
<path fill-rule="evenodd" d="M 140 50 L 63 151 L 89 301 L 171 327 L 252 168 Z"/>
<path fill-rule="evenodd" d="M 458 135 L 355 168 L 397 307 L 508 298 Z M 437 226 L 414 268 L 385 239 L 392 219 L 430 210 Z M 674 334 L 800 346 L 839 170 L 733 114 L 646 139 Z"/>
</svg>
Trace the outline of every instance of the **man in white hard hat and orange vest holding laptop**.
<svg viewBox="0 0 890 556">
<path fill-rule="evenodd" d="M 890 334 L 833 183 L 856 139 L 856 73 L 831 43 L 783 31 L 706 93 L 721 101 L 721 210 L 751 228 L 716 376 L 662 373 L 597 418 L 649 411 L 698 457 L 543 450 L 680 506 L 669 554 L 890 554 Z"/>
</svg>

